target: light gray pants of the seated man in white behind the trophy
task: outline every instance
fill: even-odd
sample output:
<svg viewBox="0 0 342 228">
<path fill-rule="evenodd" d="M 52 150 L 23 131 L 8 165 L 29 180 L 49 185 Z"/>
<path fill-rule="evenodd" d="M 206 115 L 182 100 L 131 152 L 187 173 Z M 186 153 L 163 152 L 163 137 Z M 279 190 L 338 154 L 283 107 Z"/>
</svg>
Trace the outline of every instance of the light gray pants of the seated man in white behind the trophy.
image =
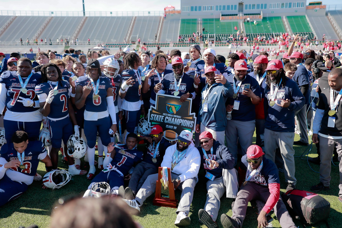
<svg viewBox="0 0 342 228">
<path fill-rule="evenodd" d="M 171 181 L 177 179 L 179 175 L 171 172 Z M 136 194 L 136 201 L 143 205 L 144 201 L 152 195 L 156 191 L 156 182 L 158 180 L 158 173 L 149 175 L 145 180 L 143 186 L 141 186 L 140 190 Z M 189 214 L 190 205 L 194 197 L 194 188 L 197 183 L 197 177 L 184 180 L 179 186 L 178 189 L 182 191 L 181 200 L 179 201 L 179 205 L 176 213 L 183 211 L 185 214 Z"/>
</svg>

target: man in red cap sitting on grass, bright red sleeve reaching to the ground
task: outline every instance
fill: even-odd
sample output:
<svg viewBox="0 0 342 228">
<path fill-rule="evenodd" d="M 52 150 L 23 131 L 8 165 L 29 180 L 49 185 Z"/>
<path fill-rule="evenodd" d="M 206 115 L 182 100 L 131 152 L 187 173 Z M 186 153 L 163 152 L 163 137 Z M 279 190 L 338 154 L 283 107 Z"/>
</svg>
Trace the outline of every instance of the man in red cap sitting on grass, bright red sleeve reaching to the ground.
<svg viewBox="0 0 342 228">
<path fill-rule="evenodd" d="M 279 198 L 278 169 L 274 162 L 263 155 L 260 146 L 252 145 L 248 148 L 247 154 L 242 156 L 239 172 L 246 172 L 246 178 L 237 193 L 233 206 L 233 216 L 221 215 L 221 223 L 224 228 L 241 228 L 246 217 L 248 202 L 254 199 L 265 203 L 258 216 L 258 227 L 268 225 L 266 214 L 272 209 L 274 209 L 281 227 L 297 227 L 286 210 L 284 202 Z"/>
</svg>

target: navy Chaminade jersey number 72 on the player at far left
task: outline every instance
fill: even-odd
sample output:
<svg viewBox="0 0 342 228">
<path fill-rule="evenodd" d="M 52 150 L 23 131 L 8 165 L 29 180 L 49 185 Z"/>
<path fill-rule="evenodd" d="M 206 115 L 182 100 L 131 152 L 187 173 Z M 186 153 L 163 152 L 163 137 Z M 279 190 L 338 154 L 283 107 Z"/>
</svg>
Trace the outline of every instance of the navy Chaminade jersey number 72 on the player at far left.
<svg viewBox="0 0 342 228">
<path fill-rule="evenodd" d="M 26 78 L 22 78 L 25 83 Z M 23 93 L 20 91 L 22 88 L 17 71 L 4 71 L 0 76 L 0 83 L 5 84 L 7 89 L 6 96 L 6 108 L 12 112 L 33 112 L 39 109 L 39 107 L 25 107 L 23 103 L 17 102 L 19 97 L 29 98 L 31 100 L 37 100 L 35 93 L 36 85 L 42 82 L 41 75 L 39 73 L 33 73 L 29 82 L 26 85 L 27 92 Z"/>
</svg>

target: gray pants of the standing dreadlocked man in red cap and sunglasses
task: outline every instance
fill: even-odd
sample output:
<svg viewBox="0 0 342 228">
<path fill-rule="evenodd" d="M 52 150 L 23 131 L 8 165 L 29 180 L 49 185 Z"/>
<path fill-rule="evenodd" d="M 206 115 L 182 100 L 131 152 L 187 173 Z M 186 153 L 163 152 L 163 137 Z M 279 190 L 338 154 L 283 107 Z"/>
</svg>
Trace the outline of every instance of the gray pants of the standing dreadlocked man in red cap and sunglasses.
<svg viewBox="0 0 342 228">
<path fill-rule="evenodd" d="M 265 157 L 275 162 L 276 149 L 280 148 L 281 157 L 284 160 L 284 175 L 288 183 L 295 185 L 297 179 L 294 177 L 294 132 L 276 132 L 265 129 Z"/>
</svg>

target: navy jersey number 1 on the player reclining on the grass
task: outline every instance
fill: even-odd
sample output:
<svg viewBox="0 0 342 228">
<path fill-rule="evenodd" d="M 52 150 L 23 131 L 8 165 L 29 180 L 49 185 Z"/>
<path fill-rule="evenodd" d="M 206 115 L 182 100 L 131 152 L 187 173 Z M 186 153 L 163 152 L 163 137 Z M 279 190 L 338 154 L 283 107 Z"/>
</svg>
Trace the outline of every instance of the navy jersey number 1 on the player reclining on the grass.
<svg viewBox="0 0 342 228">
<path fill-rule="evenodd" d="M 143 152 L 137 149 L 129 150 L 126 145 L 122 146 L 122 148 L 125 150 L 125 154 L 123 155 L 119 152 L 120 149 L 115 148 L 116 153 L 110 164 L 115 165 L 123 176 L 126 176 L 132 166 L 143 160 Z"/>
</svg>

